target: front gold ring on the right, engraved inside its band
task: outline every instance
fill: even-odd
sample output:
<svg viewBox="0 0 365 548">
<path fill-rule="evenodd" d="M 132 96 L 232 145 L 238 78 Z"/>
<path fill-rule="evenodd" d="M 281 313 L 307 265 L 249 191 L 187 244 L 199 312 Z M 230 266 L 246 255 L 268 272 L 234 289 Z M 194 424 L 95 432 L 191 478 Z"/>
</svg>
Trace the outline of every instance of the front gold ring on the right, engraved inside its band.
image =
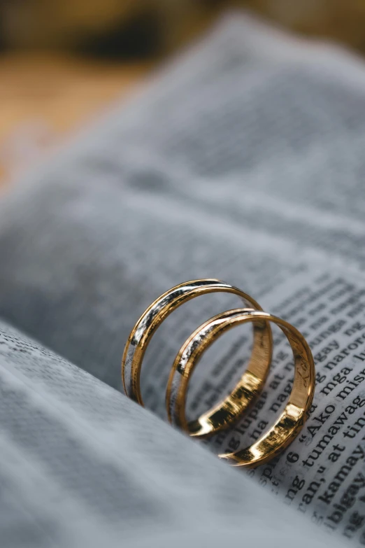
<svg viewBox="0 0 365 548">
<path fill-rule="evenodd" d="M 235 453 L 219 455 L 220 458 L 225 458 L 236 466 L 256 466 L 269 461 L 275 454 L 287 447 L 301 430 L 306 420 L 306 413 L 312 403 L 315 388 L 313 356 L 303 335 L 290 323 L 263 311 L 235 309 L 218 314 L 196 329 L 181 347 L 173 363 L 166 393 L 166 405 L 169 407 L 171 421 L 183 430 L 188 430 L 188 423 L 185 418 L 185 402 L 187 386 L 194 367 L 203 352 L 208 349 L 208 346 L 217 337 L 234 328 L 234 326 L 248 321 L 262 321 L 264 322 L 262 323 L 263 326 L 266 325 L 266 322 L 271 321 L 281 328 L 292 347 L 295 373 L 289 401 L 269 432 L 248 448 Z M 253 365 L 255 367 L 256 364 Z M 252 370 L 249 366 L 245 375 L 247 375 L 245 388 L 249 391 L 250 386 L 252 386 L 250 385 L 251 381 L 255 386 L 255 369 Z M 244 390 L 243 397 L 245 397 Z M 229 398 L 227 399 L 229 400 Z M 232 405 L 234 405 L 234 402 Z M 210 425 L 207 426 L 207 428 L 209 427 Z"/>
</svg>

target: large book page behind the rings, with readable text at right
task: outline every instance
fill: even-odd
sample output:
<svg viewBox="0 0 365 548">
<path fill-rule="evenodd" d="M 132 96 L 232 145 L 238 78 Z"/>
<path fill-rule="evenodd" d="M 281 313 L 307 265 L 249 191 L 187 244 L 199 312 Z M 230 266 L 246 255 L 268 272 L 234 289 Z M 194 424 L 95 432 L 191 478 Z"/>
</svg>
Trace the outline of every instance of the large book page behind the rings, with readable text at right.
<svg viewBox="0 0 365 548">
<path fill-rule="evenodd" d="M 317 407 L 303 435 L 250 474 L 306 526 L 357 545 L 365 543 L 364 88 L 355 57 L 233 15 L 0 205 L 0 314 L 114 388 L 138 315 L 181 281 L 233 283 L 302 330 L 316 359 Z M 169 318 L 146 356 L 143 398 L 160 416 L 180 344 L 239 304 L 201 298 Z M 192 416 L 241 371 L 245 333 L 199 365 Z M 211 449 L 250 442 L 284 405 L 291 356 L 275 337 L 262 409 L 207 442 Z"/>
</svg>

